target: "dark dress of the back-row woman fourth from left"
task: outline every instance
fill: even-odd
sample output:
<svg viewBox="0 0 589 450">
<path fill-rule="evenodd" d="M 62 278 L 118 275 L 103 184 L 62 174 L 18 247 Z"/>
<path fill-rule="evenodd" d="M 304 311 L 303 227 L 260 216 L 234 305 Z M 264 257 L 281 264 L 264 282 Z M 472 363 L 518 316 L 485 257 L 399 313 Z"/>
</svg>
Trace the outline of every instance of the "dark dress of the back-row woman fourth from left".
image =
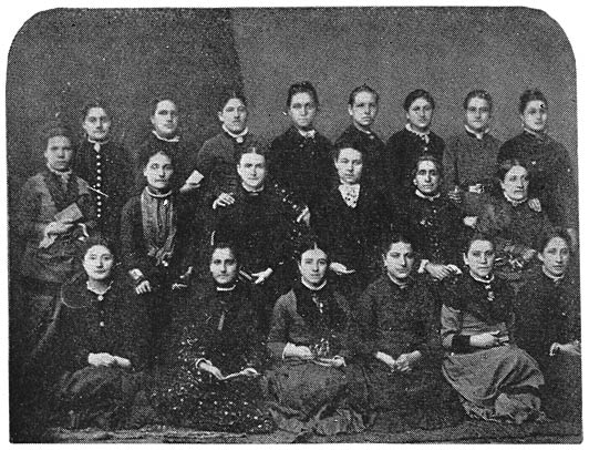
<svg viewBox="0 0 589 450">
<path fill-rule="evenodd" d="M 314 137 L 303 137 L 291 126 L 270 145 L 270 174 L 314 212 L 333 181 L 332 149 L 331 142 L 318 132 Z"/>
</svg>

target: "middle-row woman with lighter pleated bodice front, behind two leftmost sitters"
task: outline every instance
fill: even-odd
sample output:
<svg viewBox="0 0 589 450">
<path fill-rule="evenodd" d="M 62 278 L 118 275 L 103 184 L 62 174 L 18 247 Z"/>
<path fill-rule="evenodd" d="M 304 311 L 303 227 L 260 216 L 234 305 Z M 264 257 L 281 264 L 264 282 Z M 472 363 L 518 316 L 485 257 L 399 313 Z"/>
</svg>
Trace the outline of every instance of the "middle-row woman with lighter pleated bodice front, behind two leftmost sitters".
<svg viewBox="0 0 589 450">
<path fill-rule="evenodd" d="M 121 216 L 123 265 L 135 292 L 149 303 L 152 362 L 159 359 L 161 336 L 169 321 L 172 290 L 186 285 L 203 236 L 199 221 L 173 192 L 173 156 L 153 149 L 142 155 L 147 186 L 132 197 Z"/>
</svg>

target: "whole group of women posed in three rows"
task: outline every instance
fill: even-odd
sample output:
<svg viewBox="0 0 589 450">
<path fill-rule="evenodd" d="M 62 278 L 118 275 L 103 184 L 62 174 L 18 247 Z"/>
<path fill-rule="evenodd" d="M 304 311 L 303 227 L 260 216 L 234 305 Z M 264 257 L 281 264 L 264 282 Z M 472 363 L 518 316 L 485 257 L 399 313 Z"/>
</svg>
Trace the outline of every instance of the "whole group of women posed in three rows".
<svg viewBox="0 0 589 450">
<path fill-rule="evenodd" d="M 291 127 L 266 145 L 228 94 L 195 152 L 177 104 L 157 99 L 134 165 L 102 103 L 83 109 L 76 150 L 64 125 L 44 130 L 46 168 L 14 221 L 22 382 L 37 387 L 22 405 L 41 398 L 73 428 L 322 434 L 379 415 L 396 428 L 463 411 L 545 420 L 544 405 L 570 418 L 577 191 L 544 94 L 523 93 L 524 131 L 500 146 L 482 90 L 447 144 L 424 90 L 386 144 L 368 85 L 334 144 L 311 83 L 286 106 Z"/>
</svg>

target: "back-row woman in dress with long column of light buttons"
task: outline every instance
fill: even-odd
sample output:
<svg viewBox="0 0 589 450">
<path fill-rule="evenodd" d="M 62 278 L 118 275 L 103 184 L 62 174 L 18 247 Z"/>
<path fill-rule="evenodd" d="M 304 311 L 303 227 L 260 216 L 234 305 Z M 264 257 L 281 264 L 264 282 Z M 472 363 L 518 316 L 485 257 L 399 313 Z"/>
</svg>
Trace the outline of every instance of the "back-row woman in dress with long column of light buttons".
<svg viewBox="0 0 589 450">
<path fill-rule="evenodd" d="M 118 239 L 121 209 L 133 178 L 132 164 L 123 145 L 112 140 L 111 125 L 111 113 L 103 103 L 84 105 L 84 140 L 78 147 L 74 168 L 92 188 L 97 229 L 110 239 Z"/>
</svg>

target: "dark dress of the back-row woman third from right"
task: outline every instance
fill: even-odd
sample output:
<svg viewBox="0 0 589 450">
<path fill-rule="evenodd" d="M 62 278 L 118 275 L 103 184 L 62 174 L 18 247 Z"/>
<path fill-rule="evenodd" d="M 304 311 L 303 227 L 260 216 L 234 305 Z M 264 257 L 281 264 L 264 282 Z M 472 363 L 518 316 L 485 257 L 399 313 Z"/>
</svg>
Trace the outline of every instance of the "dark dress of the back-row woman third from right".
<svg viewBox="0 0 589 450">
<path fill-rule="evenodd" d="M 433 155 L 442 162 L 444 140 L 433 131 L 427 136 L 428 142 L 404 127 L 389 139 L 383 162 L 389 192 L 399 197 L 411 192 L 413 186 L 411 172 L 415 168 L 420 156 Z"/>
</svg>

